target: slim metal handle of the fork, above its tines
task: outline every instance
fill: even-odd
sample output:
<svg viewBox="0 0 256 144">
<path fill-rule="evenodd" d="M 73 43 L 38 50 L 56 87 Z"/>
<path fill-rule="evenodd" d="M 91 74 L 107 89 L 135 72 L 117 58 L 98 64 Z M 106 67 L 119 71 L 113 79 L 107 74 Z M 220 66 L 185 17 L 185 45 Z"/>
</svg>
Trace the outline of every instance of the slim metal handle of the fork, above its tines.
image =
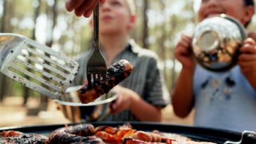
<svg viewBox="0 0 256 144">
<path fill-rule="evenodd" d="M 94 51 L 100 50 L 98 41 L 98 14 L 99 14 L 99 3 L 94 8 Z"/>
</svg>

